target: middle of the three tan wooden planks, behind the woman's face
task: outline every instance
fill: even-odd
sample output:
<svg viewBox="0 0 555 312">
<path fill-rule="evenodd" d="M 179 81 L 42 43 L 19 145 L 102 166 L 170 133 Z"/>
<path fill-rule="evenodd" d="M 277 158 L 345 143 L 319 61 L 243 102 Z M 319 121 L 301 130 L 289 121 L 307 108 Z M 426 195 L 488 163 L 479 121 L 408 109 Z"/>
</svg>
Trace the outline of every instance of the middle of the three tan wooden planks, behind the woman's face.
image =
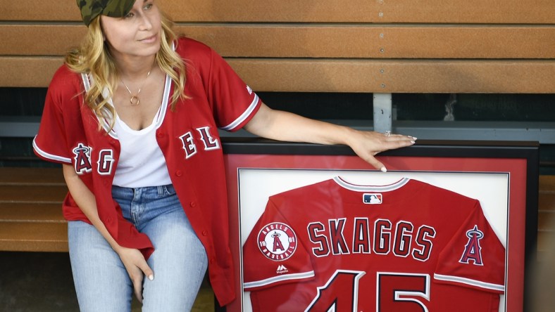
<svg viewBox="0 0 555 312">
<path fill-rule="evenodd" d="M 555 26 L 187 25 L 176 30 L 229 57 L 555 58 Z M 60 56 L 85 32 L 80 25 L 0 25 L 0 55 Z"/>
</svg>

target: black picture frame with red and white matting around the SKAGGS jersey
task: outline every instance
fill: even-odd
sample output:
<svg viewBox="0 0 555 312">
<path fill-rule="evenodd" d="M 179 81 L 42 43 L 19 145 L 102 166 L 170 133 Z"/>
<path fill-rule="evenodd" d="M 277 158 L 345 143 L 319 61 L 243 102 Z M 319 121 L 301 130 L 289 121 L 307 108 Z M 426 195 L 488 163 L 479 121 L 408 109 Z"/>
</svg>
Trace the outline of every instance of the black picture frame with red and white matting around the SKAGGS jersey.
<svg viewBox="0 0 555 312">
<path fill-rule="evenodd" d="M 504 294 L 499 295 L 498 311 L 526 311 L 530 306 L 532 293 L 526 285 L 530 282 L 530 265 L 537 261 L 537 143 L 419 140 L 411 148 L 379 155 L 387 173 L 375 170 L 352 150 L 338 145 L 230 138 L 223 146 L 230 241 L 237 244 L 232 247 L 240 281 L 235 287 L 242 296 L 218 311 L 253 311 L 251 292 L 244 290 L 242 251 L 268 198 L 335 176 L 360 186 L 387 186 L 411 178 L 479 200 L 487 221 L 506 247 Z M 303 310 L 296 307 L 293 311 Z"/>
</svg>

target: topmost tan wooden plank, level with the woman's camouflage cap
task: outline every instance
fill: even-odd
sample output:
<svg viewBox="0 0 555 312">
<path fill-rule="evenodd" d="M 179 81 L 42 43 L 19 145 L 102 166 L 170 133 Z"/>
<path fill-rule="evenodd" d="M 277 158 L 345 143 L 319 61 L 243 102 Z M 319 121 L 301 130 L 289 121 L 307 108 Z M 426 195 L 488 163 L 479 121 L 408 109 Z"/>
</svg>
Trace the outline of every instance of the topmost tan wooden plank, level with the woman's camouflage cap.
<svg viewBox="0 0 555 312">
<path fill-rule="evenodd" d="M 552 24 L 552 0 L 158 0 L 187 22 Z M 0 0 L 0 20 L 80 21 L 75 0 Z"/>
</svg>

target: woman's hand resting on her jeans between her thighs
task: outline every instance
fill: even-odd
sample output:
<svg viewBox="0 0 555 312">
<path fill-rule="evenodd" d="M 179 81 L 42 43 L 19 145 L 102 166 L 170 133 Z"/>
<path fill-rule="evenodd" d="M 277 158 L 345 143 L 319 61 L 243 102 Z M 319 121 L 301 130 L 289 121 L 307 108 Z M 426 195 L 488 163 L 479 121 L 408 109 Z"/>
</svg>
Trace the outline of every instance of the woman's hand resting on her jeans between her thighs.
<svg viewBox="0 0 555 312">
<path fill-rule="evenodd" d="M 120 259 L 127 270 L 127 274 L 129 274 L 129 277 L 133 282 L 135 296 L 139 299 L 139 302 L 142 303 L 143 278 L 144 276 L 147 276 L 149 280 L 154 280 L 154 272 L 150 266 L 146 264 L 146 260 L 144 260 L 144 256 L 139 249 L 120 246 L 116 249 L 116 252 L 120 256 Z"/>
</svg>

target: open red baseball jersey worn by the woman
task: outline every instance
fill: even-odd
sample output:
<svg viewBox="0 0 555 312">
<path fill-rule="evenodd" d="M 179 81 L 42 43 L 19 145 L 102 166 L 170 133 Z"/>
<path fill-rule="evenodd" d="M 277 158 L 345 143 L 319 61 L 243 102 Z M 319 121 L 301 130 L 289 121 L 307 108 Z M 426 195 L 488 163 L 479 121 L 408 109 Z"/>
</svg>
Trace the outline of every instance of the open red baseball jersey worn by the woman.
<svg viewBox="0 0 555 312">
<path fill-rule="evenodd" d="M 218 128 L 235 131 L 256 114 L 261 100 L 221 56 L 192 39 L 175 42 L 185 60 L 185 93 L 175 110 L 170 108 L 171 79 L 161 112 L 155 121 L 156 141 L 166 159 L 168 173 L 180 202 L 208 255 L 208 270 L 220 304 L 235 298 L 234 272 L 229 247 L 223 152 Z M 39 133 L 33 146 L 44 160 L 70 164 L 96 198 L 99 217 L 118 244 L 154 251 L 149 238 L 139 233 L 112 199 L 111 186 L 120 157 L 118 134 L 102 124 L 85 105 L 84 91 L 92 79 L 61 66 L 49 86 Z M 73 197 L 63 202 L 68 220 L 86 221 Z"/>
</svg>

